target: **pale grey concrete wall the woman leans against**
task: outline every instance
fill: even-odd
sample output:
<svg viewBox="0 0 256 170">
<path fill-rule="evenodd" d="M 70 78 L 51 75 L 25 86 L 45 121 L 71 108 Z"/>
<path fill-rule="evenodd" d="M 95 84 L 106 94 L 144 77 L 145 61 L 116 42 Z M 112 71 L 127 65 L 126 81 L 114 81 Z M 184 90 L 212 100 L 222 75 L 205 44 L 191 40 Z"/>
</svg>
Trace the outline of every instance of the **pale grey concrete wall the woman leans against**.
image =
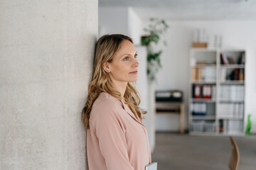
<svg viewBox="0 0 256 170">
<path fill-rule="evenodd" d="M 97 1 L 0 6 L 0 169 L 85 169 Z"/>
</svg>

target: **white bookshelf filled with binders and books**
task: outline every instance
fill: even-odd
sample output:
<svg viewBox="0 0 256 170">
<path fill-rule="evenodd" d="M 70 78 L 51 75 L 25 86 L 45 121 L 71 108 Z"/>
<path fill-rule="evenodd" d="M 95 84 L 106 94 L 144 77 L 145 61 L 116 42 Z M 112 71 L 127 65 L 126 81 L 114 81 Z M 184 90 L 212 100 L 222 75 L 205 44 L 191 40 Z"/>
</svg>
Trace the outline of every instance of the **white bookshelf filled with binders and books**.
<svg viewBox="0 0 256 170">
<path fill-rule="evenodd" d="M 191 48 L 190 135 L 245 134 L 245 58 L 245 50 Z"/>
</svg>

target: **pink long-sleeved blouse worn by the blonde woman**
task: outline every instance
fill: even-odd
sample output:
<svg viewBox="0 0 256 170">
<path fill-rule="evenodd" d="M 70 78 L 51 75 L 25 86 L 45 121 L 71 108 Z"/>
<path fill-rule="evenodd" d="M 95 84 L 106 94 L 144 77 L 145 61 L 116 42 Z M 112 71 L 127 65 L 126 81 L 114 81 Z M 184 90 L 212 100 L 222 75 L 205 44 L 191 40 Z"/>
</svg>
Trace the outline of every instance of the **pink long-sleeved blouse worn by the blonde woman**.
<svg viewBox="0 0 256 170">
<path fill-rule="evenodd" d="M 122 100 L 102 92 L 89 123 L 89 170 L 144 170 L 151 163 L 146 128 Z"/>
</svg>

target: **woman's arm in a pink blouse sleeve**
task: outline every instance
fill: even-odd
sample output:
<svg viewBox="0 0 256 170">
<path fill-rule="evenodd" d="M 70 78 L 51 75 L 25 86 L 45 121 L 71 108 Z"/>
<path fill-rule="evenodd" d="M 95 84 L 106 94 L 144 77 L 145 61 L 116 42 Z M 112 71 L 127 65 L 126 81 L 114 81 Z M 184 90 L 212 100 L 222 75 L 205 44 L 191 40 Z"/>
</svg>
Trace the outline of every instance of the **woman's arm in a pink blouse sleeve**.
<svg viewBox="0 0 256 170">
<path fill-rule="evenodd" d="M 134 170 L 129 162 L 125 130 L 118 113 L 111 106 L 103 108 L 95 116 L 92 127 L 99 140 L 100 152 L 105 158 L 107 169 Z"/>
</svg>

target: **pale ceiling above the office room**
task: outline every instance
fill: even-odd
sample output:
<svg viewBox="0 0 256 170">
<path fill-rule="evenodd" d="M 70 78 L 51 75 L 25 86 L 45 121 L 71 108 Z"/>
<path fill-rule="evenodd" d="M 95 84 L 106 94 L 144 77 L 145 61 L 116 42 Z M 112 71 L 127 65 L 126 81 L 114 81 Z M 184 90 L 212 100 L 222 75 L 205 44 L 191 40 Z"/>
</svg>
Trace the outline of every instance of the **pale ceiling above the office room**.
<svg viewBox="0 0 256 170">
<path fill-rule="evenodd" d="M 131 6 L 141 18 L 256 20 L 255 0 L 99 0 L 99 6 Z"/>
</svg>

